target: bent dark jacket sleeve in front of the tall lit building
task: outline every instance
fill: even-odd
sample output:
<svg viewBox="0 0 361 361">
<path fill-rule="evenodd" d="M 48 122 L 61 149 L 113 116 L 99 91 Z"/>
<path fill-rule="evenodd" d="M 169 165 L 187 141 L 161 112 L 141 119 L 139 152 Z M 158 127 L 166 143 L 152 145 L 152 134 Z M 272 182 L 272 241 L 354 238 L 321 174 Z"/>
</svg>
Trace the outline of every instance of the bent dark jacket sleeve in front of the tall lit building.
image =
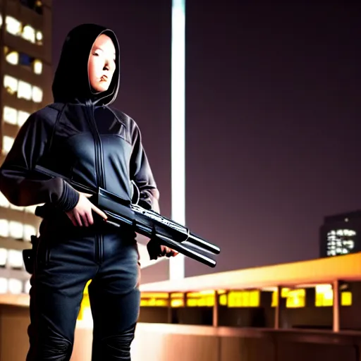
<svg viewBox="0 0 361 361">
<path fill-rule="evenodd" d="M 54 123 L 54 122 L 53 122 Z M 78 203 L 79 193 L 61 178 L 49 178 L 33 169 L 44 155 L 53 126 L 39 112 L 30 115 L 0 167 L 0 191 L 19 207 L 51 203 L 67 212 Z"/>
</svg>

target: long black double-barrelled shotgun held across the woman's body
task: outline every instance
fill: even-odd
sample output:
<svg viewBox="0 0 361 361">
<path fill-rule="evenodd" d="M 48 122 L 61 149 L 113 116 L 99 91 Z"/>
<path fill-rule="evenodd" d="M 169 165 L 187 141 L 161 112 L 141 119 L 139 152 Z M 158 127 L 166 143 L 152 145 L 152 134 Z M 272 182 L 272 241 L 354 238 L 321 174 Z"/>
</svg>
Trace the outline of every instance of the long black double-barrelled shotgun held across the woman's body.
<svg viewBox="0 0 361 361">
<path fill-rule="evenodd" d="M 36 166 L 35 172 L 51 178 L 63 178 L 78 191 L 91 194 L 90 200 L 108 216 L 106 221 L 109 224 L 116 227 L 133 226 L 136 233 L 145 235 L 152 240 L 156 239 L 159 244 L 176 250 L 197 262 L 209 267 L 216 267 L 214 255 L 219 255 L 221 249 L 191 233 L 189 228 L 177 224 L 157 212 L 133 204 L 132 201 L 123 200 L 103 188 L 97 188 L 97 190 L 89 188 L 42 166 Z"/>
</svg>

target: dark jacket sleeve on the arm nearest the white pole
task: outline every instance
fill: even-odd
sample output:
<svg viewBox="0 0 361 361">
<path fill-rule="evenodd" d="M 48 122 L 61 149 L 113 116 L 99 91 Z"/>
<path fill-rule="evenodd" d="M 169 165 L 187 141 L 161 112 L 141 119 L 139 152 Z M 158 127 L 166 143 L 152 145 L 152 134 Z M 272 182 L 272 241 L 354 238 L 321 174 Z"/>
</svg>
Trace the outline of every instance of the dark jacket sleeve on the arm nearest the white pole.
<svg viewBox="0 0 361 361">
<path fill-rule="evenodd" d="M 139 205 L 159 213 L 159 190 L 142 146 L 142 137 L 137 126 L 133 131 L 133 153 L 130 158 L 130 176 L 140 190 Z"/>
</svg>

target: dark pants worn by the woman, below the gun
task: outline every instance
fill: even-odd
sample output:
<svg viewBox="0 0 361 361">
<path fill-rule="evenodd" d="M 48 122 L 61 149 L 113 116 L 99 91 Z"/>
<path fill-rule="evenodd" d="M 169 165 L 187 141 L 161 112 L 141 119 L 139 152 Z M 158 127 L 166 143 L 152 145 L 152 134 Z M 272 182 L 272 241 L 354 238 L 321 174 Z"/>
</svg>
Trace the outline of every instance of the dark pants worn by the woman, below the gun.
<svg viewBox="0 0 361 361">
<path fill-rule="evenodd" d="M 30 289 L 27 361 L 68 361 L 87 281 L 94 329 L 92 361 L 130 360 L 140 310 L 135 233 L 53 229 L 40 236 Z M 85 234 L 87 233 L 87 234 Z M 52 234 L 51 238 L 50 235 Z"/>
</svg>

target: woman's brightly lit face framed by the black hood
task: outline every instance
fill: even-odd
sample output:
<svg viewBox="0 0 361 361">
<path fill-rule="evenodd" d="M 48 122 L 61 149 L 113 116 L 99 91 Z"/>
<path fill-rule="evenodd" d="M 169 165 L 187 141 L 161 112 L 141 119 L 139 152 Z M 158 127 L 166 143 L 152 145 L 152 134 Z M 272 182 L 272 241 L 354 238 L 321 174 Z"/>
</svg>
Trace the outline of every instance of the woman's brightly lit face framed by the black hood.
<svg viewBox="0 0 361 361">
<path fill-rule="evenodd" d="M 90 51 L 87 71 L 92 89 L 96 92 L 108 90 L 116 70 L 116 48 L 111 38 L 100 35 Z"/>
</svg>

